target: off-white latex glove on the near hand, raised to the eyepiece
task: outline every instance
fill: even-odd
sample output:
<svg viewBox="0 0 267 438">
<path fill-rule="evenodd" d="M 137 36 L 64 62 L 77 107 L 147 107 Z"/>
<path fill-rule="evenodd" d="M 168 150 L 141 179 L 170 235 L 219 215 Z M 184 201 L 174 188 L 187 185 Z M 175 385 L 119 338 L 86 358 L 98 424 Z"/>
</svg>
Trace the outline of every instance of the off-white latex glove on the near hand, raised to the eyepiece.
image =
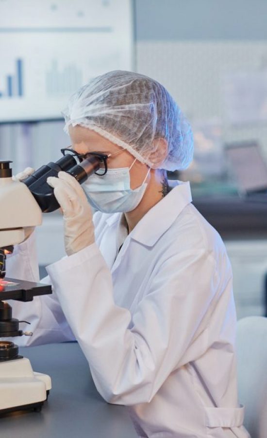
<svg viewBox="0 0 267 438">
<path fill-rule="evenodd" d="M 65 250 L 68 256 L 78 253 L 95 241 L 92 210 L 81 185 L 66 172 L 58 178 L 49 177 L 47 183 L 63 211 Z"/>
</svg>

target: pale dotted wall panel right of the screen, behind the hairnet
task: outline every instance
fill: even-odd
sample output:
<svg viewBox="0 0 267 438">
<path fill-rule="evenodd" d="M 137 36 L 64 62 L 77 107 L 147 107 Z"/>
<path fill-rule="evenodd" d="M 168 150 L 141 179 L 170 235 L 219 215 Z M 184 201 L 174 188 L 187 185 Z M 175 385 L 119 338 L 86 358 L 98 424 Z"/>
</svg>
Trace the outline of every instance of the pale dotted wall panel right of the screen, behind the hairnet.
<svg viewBox="0 0 267 438">
<path fill-rule="evenodd" d="M 267 121 L 231 126 L 225 78 L 267 71 L 267 41 L 138 41 L 136 69 L 163 85 L 194 126 L 217 118 L 224 142 L 257 139 L 267 158 Z"/>
</svg>

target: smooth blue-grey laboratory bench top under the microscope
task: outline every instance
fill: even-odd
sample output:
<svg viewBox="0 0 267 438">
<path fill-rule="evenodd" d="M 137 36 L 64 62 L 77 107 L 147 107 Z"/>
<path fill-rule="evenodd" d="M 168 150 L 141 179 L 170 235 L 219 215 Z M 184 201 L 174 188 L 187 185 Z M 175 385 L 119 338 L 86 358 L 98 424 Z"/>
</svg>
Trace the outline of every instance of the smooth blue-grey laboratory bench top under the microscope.
<svg viewBox="0 0 267 438">
<path fill-rule="evenodd" d="M 49 374 L 52 389 L 41 412 L 0 417 L 3 438 L 136 438 L 125 406 L 105 402 L 76 342 L 24 347 L 33 370 Z"/>
</svg>

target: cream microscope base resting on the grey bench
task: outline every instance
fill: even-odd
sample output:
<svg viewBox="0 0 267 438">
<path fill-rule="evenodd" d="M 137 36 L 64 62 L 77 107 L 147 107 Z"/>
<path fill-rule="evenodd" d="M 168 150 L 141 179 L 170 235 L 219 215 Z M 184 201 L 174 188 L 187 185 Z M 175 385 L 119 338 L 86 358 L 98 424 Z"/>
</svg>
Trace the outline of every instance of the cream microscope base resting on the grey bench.
<svg viewBox="0 0 267 438">
<path fill-rule="evenodd" d="M 0 414 L 20 409 L 41 410 L 50 389 L 50 377 L 33 372 L 29 359 L 0 362 Z"/>
</svg>

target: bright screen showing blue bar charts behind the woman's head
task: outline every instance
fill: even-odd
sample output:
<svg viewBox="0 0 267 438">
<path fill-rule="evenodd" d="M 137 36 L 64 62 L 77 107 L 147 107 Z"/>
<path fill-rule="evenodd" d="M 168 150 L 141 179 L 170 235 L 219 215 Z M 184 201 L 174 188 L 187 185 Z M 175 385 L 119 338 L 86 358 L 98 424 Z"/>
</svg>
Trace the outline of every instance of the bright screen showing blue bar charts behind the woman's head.
<svg viewBox="0 0 267 438">
<path fill-rule="evenodd" d="M 133 70 L 131 0 L 0 0 L 0 123 L 60 119 L 92 77 Z"/>
</svg>

